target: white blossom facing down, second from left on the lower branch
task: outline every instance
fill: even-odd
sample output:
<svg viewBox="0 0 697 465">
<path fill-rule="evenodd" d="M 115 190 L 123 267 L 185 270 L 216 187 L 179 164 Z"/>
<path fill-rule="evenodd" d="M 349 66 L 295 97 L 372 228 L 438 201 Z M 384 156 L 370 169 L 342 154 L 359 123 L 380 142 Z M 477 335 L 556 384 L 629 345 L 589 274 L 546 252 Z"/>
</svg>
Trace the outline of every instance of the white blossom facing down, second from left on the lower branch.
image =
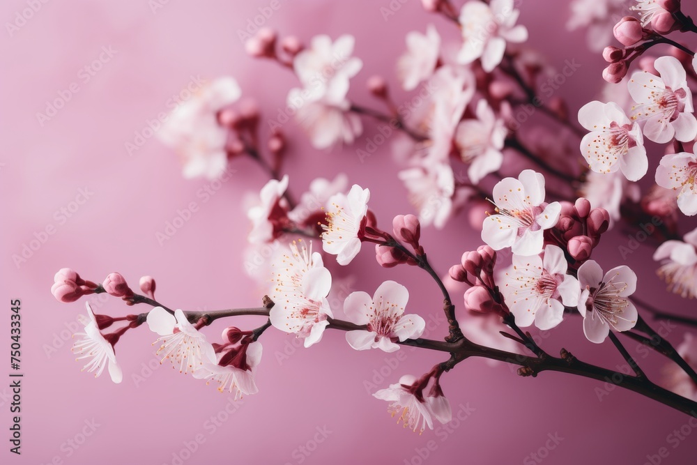
<svg viewBox="0 0 697 465">
<path fill-rule="evenodd" d="M 162 344 L 157 354 L 164 355 L 162 360 L 169 358 L 173 368 L 178 365 L 180 373 L 196 372 L 204 363 L 215 363 L 213 346 L 181 310 L 172 315 L 162 307 L 155 307 L 146 321 L 153 333 L 162 336 L 158 339 Z"/>
</svg>

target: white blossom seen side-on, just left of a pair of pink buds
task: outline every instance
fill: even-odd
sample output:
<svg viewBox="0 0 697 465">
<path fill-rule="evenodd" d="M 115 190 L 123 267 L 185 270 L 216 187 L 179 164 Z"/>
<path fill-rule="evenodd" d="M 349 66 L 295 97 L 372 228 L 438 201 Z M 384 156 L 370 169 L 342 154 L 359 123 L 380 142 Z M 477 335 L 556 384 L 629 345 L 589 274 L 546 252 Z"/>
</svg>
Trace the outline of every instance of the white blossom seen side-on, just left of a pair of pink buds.
<svg viewBox="0 0 697 465">
<path fill-rule="evenodd" d="M 354 184 L 348 195 L 337 194 L 329 199 L 322 247 L 328 254 L 337 256 L 339 265 L 348 265 L 360 252 L 369 198 L 369 190 Z"/>
</svg>

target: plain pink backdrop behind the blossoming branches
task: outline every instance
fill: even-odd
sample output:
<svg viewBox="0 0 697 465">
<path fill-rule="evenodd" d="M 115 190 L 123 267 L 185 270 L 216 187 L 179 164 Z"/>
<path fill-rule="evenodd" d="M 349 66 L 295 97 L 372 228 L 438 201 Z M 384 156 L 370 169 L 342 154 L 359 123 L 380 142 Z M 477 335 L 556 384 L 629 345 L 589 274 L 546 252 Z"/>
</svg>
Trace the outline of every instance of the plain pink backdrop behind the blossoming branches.
<svg viewBox="0 0 697 465">
<path fill-rule="evenodd" d="M 599 55 L 587 52 L 583 32 L 565 32 L 565 3 L 523 2 L 521 21 L 530 29 L 530 43 L 542 47 L 551 63 L 560 68 L 565 59 L 582 63 L 560 89 L 576 112 L 595 96 L 603 63 Z M 260 392 L 238 402 L 231 415 L 221 413 L 229 395 L 167 365 L 160 368 L 153 362 L 158 369 L 141 383 L 134 381 L 133 374 L 148 375 L 142 364 L 155 360 L 154 337 L 146 328 L 127 333 L 116 346 L 124 371 L 121 385 L 111 383 L 108 376 L 95 380 L 79 372 L 70 353 L 72 341 L 66 341 L 66 325 L 84 312 L 84 302 L 62 305 L 49 292 L 54 273 L 63 266 L 93 280 L 116 270 L 134 284 L 141 275 L 153 275 L 158 300 L 171 307 L 213 310 L 258 305 L 261 294 L 243 270 L 249 226 L 241 199 L 245 192 L 259 190 L 265 175 L 251 162 L 238 161 L 231 181 L 204 203 L 197 191 L 206 181 L 185 181 L 176 157 L 154 137 L 132 156 L 124 145 L 146 128 L 146 120 L 167 111 L 167 100 L 192 75 L 204 79 L 233 75 L 245 95 L 259 101 L 263 121 L 275 117 L 296 80 L 273 63 L 248 58 L 236 33 L 268 4 L 266 0 L 169 1 L 153 14 L 147 1 L 52 1 L 42 4 L 13 36 L 6 34 L 0 40 L 4 68 L 0 189 L 6 218 L 0 232 L 6 303 L 0 318 L 1 328 L 6 328 L 0 340 L 5 342 L 0 345 L 3 351 L 8 349 L 8 302 L 21 298 L 25 373 L 21 457 L 8 452 L 9 390 L 0 388 L 0 461 L 48 464 L 58 457 L 54 463 L 172 464 L 179 463 L 173 454 L 179 454 L 183 443 L 200 435 L 205 442 L 185 463 L 537 463 L 530 453 L 544 448 L 548 434 L 558 434 L 563 440 L 549 457 L 542 453 L 546 463 L 643 464 L 647 455 L 656 455 L 662 447 L 669 455 L 661 463 L 694 463 L 697 432 L 676 448 L 668 442 L 673 429 L 689 419 L 677 411 L 619 389 L 599 402 L 595 388 L 602 385 L 595 381 L 552 373 L 522 379 L 508 367 L 491 368 L 483 360 L 468 360 L 443 377 L 454 413 L 461 412 L 460 404 L 469 405 L 475 409 L 470 416 L 447 431 L 412 434 L 394 425 L 385 402 L 371 397 L 364 381 L 372 379 L 374 370 L 383 369 L 390 373 L 378 380 L 382 388 L 401 374 L 427 371 L 443 356 L 403 349 L 406 360 L 391 369 L 385 361 L 390 355 L 355 352 L 342 333 L 327 333 L 319 346 L 295 349 L 279 363 L 278 354 L 293 347 L 289 345 L 293 337 L 269 330 L 261 339 Z M 434 22 L 443 36 L 457 37 L 451 24 L 424 13 L 417 0 L 392 1 L 401 8 L 385 21 L 380 8 L 389 4 L 388 0 L 281 0 L 281 8 L 266 25 L 282 34 L 296 33 L 302 40 L 317 33 L 334 38 L 353 33 L 355 54 L 365 65 L 353 80 L 350 96 L 378 107 L 362 83 L 374 73 L 396 83 L 393 65 L 404 49 L 407 31 L 424 31 Z M 25 1 L 3 2 L 0 18 L 13 21 L 24 8 Z M 78 72 L 98 58 L 102 46 L 116 53 L 84 82 Z M 57 98 L 72 82 L 79 91 L 41 125 L 36 113 L 45 112 L 47 100 Z M 396 98 L 406 96 L 397 92 Z M 367 132 L 355 146 L 326 153 L 310 148 L 296 125 L 288 123 L 284 130 L 291 151 L 286 167 L 296 195 L 316 176 L 345 171 L 352 182 L 371 189 L 371 207 L 385 224 L 392 215 L 412 210 L 395 180 L 397 167 L 390 161 L 389 144 L 365 163 L 355 155 L 356 148 L 365 146 L 365 137 L 375 134 L 372 122 L 364 122 Z M 654 165 L 657 156 L 654 153 Z M 93 195 L 71 218 L 63 221 L 55 216 L 75 200 L 80 188 Z M 160 245 L 155 234 L 190 201 L 198 202 L 199 211 Z M 34 234 L 48 225 L 56 227 L 55 234 L 26 263 L 15 266 L 13 254 L 21 254 Z M 443 273 L 461 252 L 480 243 L 464 215 L 455 218 L 447 231 L 425 229 L 423 236 L 429 257 Z M 623 262 L 618 246 L 627 244 L 626 234 L 618 230 L 614 236 L 614 243 L 608 239 L 599 250 L 604 268 Z M 652 247 L 642 245 L 626 261 L 638 271 L 638 295 L 675 312 L 694 312 L 693 302 L 666 298 L 664 285 L 654 275 L 651 254 Z M 412 311 L 427 319 L 440 312 L 436 287 L 418 270 L 379 268 L 371 250 L 364 250 L 351 270 L 361 271 L 351 291 L 372 294 L 380 282 L 394 279 L 411 289 Z M 460 296 L 456 303 L 461 305 Z M 95 305 L 112 315 L 126 311 L 117 300 L 98 300 Z M 249 317 L 234 323 L 252 328 L 263 321 Z M 208 334 L 217 337 L 222 328 L 220 323 Z M 438 331 L 444 333 L 445 325 Z M 676 328 L 669 337 L 678 343 L 682 333 L 683 328 Z M 585 340 L 579 319 L 569 317 L 544 340 L 551 352 L 562 345 L 580 358 L 608 367 L 622 363 L 610 347 Z M 636 354 L 636 344 L 627 346 Z M 604 354 L 610 355 L 602 358 Z M 654 356 L 642 363 L 654 378 L 664 364 Z M 3 363 L 0 371 L 8 370 Z M 210 418 L 219 414 L 225 421 L 213 431 Z M 80 435 L 90 420 L 99 426 L 83 443 Z M 331 432 L 321 443 L 314 443 L 317 428 Z M 67 445 L 69 439 L 82 444 L 74 449 Z M 419 450 L 426 455 L 429 441 L 434 441 L 434 450 L 421 459 Z M 302 455 L 301 445 L 312 453 Z"/>
</svg>

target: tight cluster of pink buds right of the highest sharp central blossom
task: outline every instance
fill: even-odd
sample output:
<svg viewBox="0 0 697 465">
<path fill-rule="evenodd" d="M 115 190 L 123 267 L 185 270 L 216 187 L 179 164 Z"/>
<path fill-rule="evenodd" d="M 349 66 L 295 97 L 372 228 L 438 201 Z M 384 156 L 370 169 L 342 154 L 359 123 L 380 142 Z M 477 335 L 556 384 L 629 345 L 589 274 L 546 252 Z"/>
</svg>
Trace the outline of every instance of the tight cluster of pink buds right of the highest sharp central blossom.
<svg viewBox="0 0 697 465">
<path fill-rule="evenodd" d="M 590 202 L 581 197 L 575 204 L 561 202 L 559 222 L 545 231 L 547 243 L 566 249 L 577 264 L 588 260 L 600 242 L 600 236 L 610 226 L 610 215 L 604 208 L 590 208 Z"/>
</svg>

